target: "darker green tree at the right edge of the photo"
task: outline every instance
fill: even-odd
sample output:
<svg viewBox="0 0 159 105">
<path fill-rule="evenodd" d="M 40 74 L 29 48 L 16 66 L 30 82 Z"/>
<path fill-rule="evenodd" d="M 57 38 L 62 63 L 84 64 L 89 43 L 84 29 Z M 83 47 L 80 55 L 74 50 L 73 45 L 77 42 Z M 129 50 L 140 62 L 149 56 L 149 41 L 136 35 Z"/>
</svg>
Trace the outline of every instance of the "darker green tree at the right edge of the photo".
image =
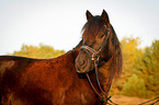
<svg viewBox="0 0 159 105">
<path fill-rule="evenodd" d="M 145 49 L 135 63 L 134 72 L 145 81 L 148 97 L 159 95 L 159 40 Z"/>
</svg>

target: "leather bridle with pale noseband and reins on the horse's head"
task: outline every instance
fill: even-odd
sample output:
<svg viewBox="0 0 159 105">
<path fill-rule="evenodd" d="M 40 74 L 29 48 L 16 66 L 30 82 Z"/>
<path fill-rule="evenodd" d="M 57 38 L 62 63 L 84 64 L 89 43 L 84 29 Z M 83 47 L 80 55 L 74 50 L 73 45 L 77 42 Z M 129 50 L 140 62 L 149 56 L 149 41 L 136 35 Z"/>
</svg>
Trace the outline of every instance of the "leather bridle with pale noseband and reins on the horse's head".
<svg viewBox="0 0 159 105">
<path fill-rule="evenodd" d="M 95 68 L 95 77 L 96 77 L 96 83 L 98 83 L 98 86 L 100 89 L 100 91 L 102 92 L 102 94 L 106 97 L 106 100 L 104 100 L 103 95 L 100 95 L 100 93 L 95 90 L 95 88 L 93 86 L 92 82 L 91 82 L 91 79 L 89 77 L 89 73 L 86 73 L 87 78 L 88 78 L 88 81 L 91 85 L 91 88 L 93 89 L 94 93 L 102 100 L 102 102 L 105 102 L 107 103 L 107 101 L 110 101 L 111 103 L 113 103 L 110 98 L 111 96 L 109 97 L 106 95 L 106 93 L 103 91 L 103 89 L 101 88 L 101 84 L 100 84 L 100 81 L 99 81 L 99 74 L 98 74 L 98 62 L 99 62 L 99 59 L 100 59 L 100 54 L 101 51 L 103 50 L 103 48 L 105 47 L 105 45 L 107 44 L 107 40 L 109 40 L 109 37 L 110 37 L 110 28 L 106 30 L 107 31 L 107 36 L 105 37 L 102 46 L 100 47 L 100 49 L 96 51 L 94 50 L 93 48 L 87 46 L 87 45 L 82 45 L 81 46 L 81 49 L 84 50 L 88 55 L 89 55 L 89 58 L 90 60 L 93 62 L 94 65 L 94 68 Z M 91 55 L 92 54 L 92 55 Z M 115 103 L 113 103 L 114 105 L 117 105 Z"/>
</svg>

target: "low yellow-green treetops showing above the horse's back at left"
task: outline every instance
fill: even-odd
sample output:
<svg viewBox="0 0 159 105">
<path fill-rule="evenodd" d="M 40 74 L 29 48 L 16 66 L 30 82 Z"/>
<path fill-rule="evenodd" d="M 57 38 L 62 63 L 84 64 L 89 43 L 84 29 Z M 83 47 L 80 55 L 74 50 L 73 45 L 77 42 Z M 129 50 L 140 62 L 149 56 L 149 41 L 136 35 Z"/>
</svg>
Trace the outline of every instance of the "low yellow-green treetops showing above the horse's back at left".
<svg viewBox="0 0 159 105">
<path fill-rule="evenodd" d="M 31 58 L 55 58 L 65 54 L 65 50 L 55 50 L 52 46 L 39 44 L 39 46 L 22 45 L 21 50 L 14 51 L 13 56 Z"/>
</svg>

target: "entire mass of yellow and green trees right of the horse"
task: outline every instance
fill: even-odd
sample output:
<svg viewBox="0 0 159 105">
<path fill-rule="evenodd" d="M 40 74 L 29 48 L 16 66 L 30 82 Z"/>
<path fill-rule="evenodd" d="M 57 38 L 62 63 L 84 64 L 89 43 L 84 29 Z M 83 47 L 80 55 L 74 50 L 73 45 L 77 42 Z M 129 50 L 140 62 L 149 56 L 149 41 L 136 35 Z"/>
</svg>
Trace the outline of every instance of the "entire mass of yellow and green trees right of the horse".
<svg viewBox="0 0 159 105">
<path fill-rule="evenodd" d="M 125 37 L 121 43 L 123 51 L 123 72 L 121 79 L 113 83 L 111 95 L 124 94 L 139 97 L 158 96 L 159 40 L 155 40 L 150 47 L 144 49 L 138 48 L 140 44 L 139 38 Z"/>
</svg>

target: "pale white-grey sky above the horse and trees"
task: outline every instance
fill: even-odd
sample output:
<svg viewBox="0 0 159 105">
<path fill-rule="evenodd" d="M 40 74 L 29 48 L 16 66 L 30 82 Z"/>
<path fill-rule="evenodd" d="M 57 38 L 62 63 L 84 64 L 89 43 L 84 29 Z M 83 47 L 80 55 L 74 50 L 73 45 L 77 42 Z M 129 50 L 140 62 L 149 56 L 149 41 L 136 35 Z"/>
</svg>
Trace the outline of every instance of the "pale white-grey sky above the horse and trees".
<svg viewBox="0 0 159 105">
<path fill-rule="evenodd" d="M 133 35 L 145 47 L 159 39 L 159 0 L 0 0 L 0 55 L 23 44 L 68 51 L 81 39 L 86 11 L 103 9 L 120 40 Z"/>
</svg>

